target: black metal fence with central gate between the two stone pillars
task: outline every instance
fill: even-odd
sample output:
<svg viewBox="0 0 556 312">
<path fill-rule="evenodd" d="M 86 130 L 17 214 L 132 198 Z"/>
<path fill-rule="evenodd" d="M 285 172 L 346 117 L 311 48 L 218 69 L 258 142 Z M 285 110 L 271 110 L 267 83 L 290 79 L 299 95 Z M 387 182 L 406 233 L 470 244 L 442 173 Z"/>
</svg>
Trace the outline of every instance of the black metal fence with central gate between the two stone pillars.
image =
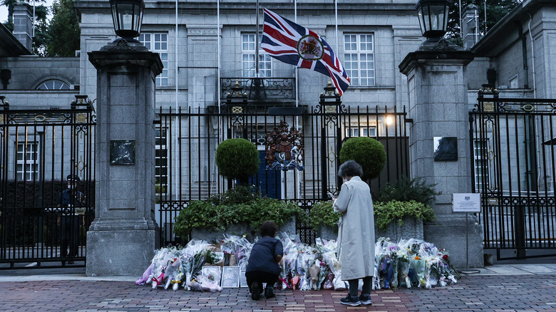
<svg viewBox="0 0 556 312">
<path fill-rule="evenodd" d="M 380 177 L 370 182 L 375 195 L 387 182 L 396 182 L 402 175 L 409 176 L 405 111 L 348 108 L 340 103 L 326 102 L 300 108 L 240 102 L 207 110 L 161 109 L 158 115 L 160 120 L 155 122 L 156 221 L 162 231 L 161 245 L 179 242 L 180 238 L 172 232 L 173 222 L 188 202 L 207 199 L 231 187 L 230 182 L 218 175 L 215 165 L 215 150 L 228 138 L 243 137 L 257 145 L 261 167 L 250 182 L 257 185 L 263 195 L 297 202 L 307 213 L 314 202 L 327 199 L 327 192 L 339 192 L 341 179 L 336 177 L 339 150 L 350 137 L 374 137 L 386 149 L 387 164 Z M 293 166 L 287 170 L 284 166 L 278 166 L 282 170 L 267 170 L 265 157 L 269 145 L 266 136 L 281 123 L 282 126 L 287 123 L 287 131 L 293 129 L 303 135 L 303 148 L 296 150 L 303 170 Z M 314 240 L 309 224 L 302 224 L 297 232 L 304 241 Z"/>
</svg>

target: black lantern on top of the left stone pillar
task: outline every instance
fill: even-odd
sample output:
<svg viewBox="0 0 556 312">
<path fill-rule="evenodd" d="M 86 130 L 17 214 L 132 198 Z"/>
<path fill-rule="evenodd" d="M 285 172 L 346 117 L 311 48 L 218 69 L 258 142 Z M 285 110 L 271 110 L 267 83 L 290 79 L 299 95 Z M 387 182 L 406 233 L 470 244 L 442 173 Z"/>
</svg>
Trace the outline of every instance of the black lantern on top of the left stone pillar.
<svg viewBox="0 0 556 312">
<path fill-rule="evenodd" d="M 110 0 L 112 20 L 116 35 L 125 41 L 135 42 L 135 37 L 141 33 L 143 23 L 143 0 Z"/>
</svg>

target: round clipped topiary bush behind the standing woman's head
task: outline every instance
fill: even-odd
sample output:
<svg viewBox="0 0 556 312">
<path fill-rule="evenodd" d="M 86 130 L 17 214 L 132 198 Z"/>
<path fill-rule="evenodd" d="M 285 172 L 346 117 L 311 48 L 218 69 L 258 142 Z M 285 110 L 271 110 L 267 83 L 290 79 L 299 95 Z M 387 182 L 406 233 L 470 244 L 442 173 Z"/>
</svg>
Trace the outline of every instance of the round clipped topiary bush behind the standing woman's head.
<svg viewBox="0 0 556 312">
<path fill-rule="evenodd" d="M 340 162 L 355 160 L 363 167 L 363 180 L 378 177 L 386 164 L 386 151 L 381 142 L 372 137 L 352 137 L 340 150 Z"/>
</svg>

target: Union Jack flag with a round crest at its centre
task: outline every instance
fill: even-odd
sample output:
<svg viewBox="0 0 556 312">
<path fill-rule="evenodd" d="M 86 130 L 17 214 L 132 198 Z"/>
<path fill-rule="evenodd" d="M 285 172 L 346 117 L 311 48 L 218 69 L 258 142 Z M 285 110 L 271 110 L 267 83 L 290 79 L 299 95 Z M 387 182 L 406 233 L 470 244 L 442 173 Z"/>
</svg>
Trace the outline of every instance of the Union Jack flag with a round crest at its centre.
<svg viewBox="0 0 556 312">
<path fill-rule="evenodd" d="M 339 95 L 349 86 L 344 66 L 323 38 L 268 9 L 264 9 L 261 48 L 279 61 L 329 76 Z"/>
</svg>

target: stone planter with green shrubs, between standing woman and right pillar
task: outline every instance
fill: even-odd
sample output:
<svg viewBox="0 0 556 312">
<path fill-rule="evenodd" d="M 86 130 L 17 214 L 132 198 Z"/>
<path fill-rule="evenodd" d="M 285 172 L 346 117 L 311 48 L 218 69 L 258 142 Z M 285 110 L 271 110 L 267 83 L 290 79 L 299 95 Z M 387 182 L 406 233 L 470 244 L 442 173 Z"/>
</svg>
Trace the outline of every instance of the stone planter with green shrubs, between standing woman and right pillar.
<svg viewBox="0 0 556 312">
<path fill-rule="evenodd" d="M 396 184 L 386 184 L 374 202 L 375 233 L 377 237 L 423 239 L 423 222 L 435 218 L 431 203 L 436 184 L 426 184 L 420 178 L 402 177 Z"/>
</svg>

